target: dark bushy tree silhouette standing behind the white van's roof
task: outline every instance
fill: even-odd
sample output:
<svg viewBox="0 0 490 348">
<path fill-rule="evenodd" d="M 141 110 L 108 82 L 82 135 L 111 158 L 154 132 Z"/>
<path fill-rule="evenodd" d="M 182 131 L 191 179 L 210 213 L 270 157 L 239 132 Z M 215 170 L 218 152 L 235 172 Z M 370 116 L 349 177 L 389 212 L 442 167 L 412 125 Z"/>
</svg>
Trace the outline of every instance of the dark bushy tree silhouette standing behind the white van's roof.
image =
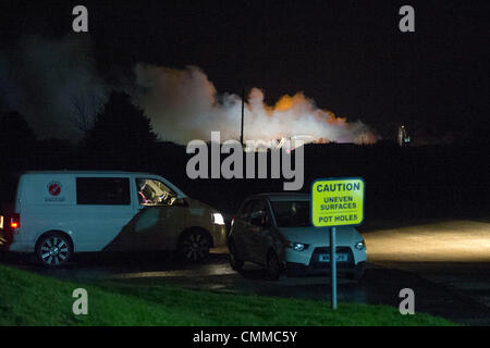
<svg viewBox="0 0 490 348">
<path fill-rule="evenodd" d="M 85 144 L 99 167 L 146 166 L 157 135 L 149 119 L 124 92 L 113 91 L 87 132 Z"/>
</svg>

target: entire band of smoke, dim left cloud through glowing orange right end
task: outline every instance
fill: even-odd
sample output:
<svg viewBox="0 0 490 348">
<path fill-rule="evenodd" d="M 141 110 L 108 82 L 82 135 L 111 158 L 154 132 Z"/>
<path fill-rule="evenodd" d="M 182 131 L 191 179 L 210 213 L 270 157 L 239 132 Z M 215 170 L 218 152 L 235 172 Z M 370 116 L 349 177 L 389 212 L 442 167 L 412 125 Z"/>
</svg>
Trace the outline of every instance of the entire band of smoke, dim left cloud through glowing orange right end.
<svg viewBox="0 0 490 348">
<path fill-rule="evenodd" d="M 130 75 L 120 76 L 120 80 L 127 82 Z M 137 64 L 130 86 L 109 87 L 97 72 L 87 36 L 32 36 L 9 51 L 0 51 L 0 112 L 19 111 L 39 138 L 78 140 L 111 88 L 131 92 L 162 140 L 209 140 L 211 130 L 220 130 L 223 141 L 240 139 L 241 97 L 219 94 L 196 66 L 175 70 Z M 376 141 L 368 126 L 336 117 L 303 92 L 283 96 L 273 105 L 264 97 L 259 88 L 246 96 L 245 140 L 308 136 L 314 141 Z"/>
</svg>

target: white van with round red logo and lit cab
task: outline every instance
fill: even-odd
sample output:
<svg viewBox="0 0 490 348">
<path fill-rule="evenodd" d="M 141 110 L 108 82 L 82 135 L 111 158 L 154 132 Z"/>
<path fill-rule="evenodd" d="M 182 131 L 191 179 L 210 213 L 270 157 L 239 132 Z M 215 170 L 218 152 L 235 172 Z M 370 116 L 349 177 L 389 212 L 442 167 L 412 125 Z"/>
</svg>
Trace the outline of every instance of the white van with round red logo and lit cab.
<svg viewBox="0 0 490 348">
<path fill-rule="evenodd" d="M 200 261 L 224 243 L 218 211 L 148 173 L 27 172 L 11 211 L 0 211 L 0 247 L 35 252 L 46 266 L 102 250 L 177 250 Z"/>
</svg>

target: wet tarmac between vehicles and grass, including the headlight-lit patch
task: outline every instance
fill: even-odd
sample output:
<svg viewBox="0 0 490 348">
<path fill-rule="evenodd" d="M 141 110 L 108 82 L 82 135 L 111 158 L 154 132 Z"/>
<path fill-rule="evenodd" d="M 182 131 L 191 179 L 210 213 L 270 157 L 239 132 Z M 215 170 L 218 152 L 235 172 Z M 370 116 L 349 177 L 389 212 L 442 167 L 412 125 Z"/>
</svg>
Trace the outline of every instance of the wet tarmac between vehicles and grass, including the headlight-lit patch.
<svg viewBox="0 0 490 348">
<path fill-rule="evenodd" d="M 402 288 L 415 291 L 416 312 L 458 323 L 490 325 L 490 224 L 443 221 L 409 227 L 363 231 L 369 263 L 359 283 L 341 277 L 339 301 L 399 307 Z M 330 300 L 330 277 L 266 279 L 265 272 L 246 264 L 232 271 L 228 250 L 215 249 L 204 264 L 182 264 L 171 254 L 84 254 L 62 270 L 46 270 L 29 259 L 13 258 L 21 269 L 78 282 L 100 281 L 150 286 L 173 284 L 188 288 Z"/>
</svg>

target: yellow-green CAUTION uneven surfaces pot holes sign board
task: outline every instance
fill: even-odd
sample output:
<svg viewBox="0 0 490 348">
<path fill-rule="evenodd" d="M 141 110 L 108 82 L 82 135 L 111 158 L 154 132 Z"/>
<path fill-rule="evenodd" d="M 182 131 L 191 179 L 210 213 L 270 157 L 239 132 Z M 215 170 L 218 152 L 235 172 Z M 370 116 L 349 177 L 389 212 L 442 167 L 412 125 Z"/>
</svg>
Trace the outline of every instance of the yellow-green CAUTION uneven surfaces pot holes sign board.
<svg viewBox="0 0 490 348">
<path fill-rule="evenodd" d="M 319 178 L 311 185 L 311 223 L 316 227 L 360 225 L 364 179 Z"/>
</svg>

